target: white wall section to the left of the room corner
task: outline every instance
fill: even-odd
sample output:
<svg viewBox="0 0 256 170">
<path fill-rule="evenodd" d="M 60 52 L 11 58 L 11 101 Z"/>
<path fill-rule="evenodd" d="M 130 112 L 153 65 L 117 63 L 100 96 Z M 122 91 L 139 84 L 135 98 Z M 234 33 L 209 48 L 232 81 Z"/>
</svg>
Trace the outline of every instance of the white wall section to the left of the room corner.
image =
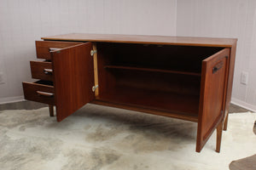
<svg viewBox="0 0 256 170">
<path fill-rule="evenodd" d="M 176 35 L 176 0 L 0 0 L 0 103 L 23 99 L 34 41 L 72 32 Z"/>
</svg>

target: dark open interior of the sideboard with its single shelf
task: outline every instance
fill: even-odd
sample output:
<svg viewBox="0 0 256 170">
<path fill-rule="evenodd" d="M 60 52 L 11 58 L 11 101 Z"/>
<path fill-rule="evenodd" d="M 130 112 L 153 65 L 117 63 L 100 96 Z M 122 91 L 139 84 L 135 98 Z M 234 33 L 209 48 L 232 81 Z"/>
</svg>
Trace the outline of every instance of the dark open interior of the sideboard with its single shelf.
<svg viewBox="0 0 256 170">
<path fill-rule="evenodd" d="M 96 46 L 97 100 L 190 116 L 198 116 L 201 61 L 223 49 L 112 42 Z"/>
</svg>

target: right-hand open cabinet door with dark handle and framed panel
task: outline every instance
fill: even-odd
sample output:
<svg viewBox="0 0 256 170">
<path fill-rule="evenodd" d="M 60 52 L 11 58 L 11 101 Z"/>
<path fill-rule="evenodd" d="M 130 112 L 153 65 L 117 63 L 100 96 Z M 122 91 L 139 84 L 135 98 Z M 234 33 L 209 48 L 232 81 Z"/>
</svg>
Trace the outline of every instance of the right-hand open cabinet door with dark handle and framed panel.
<svg viewBox="0 0 256 170">
<path fill-rule="evenodd" d="M 202 61 L 200 110 L 196 151 L 200 152 L 224 118 L 224 98 L 230 49 L 224 48 Z"/>
</svg>

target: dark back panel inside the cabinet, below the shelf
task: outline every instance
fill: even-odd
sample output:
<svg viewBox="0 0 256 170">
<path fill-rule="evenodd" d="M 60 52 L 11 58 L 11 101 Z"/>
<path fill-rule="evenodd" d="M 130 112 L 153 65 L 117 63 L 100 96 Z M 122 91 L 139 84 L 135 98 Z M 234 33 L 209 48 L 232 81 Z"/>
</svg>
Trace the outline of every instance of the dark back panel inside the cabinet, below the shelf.
<svg viewBox="0 0 256 170">
<path fill-rule="evenodd" d="M 166 93 L 200 94 L 200 77 L 171 73 L 110 70 L 116 86 L 141 88 Z"/>
</svg>

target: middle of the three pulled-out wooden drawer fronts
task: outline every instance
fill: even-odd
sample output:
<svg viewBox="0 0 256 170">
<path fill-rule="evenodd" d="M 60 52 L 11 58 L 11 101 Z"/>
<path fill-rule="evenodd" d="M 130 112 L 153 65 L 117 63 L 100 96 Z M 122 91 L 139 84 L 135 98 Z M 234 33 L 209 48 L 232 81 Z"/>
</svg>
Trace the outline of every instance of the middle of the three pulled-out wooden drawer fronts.
<svg viewBox="0 0 256 170">
<path fill-rule="evenodd" d="M 43 61 L 30 61 L 32 78 L 53 81 L 52 63 Z"/>
</svg>

